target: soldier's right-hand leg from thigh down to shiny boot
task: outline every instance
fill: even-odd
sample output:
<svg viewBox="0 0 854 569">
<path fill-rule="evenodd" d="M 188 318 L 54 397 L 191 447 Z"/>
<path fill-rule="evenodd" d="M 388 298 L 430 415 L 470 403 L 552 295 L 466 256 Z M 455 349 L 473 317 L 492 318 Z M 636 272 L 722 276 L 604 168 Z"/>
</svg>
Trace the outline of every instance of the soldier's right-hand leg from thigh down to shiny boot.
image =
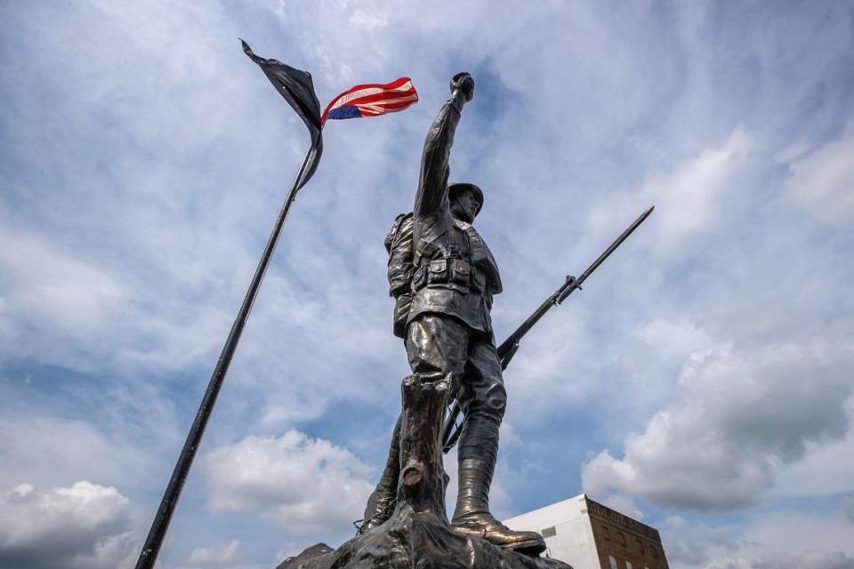
<svg viewBox="0 0 854 569">
<path fill-rule="evenodd" d="M 498 429 L 507 404 L 501 364 L 491 334 L 472 336 L 458 398 L 465 421 L 458 450 L 460 493 L 452 521 L 455 531 L 501 547 L 539 554 L 545 549 L 539 533 L 514 532 L 489 511 L 489 486 L 498 457 Z"/>
</svg>

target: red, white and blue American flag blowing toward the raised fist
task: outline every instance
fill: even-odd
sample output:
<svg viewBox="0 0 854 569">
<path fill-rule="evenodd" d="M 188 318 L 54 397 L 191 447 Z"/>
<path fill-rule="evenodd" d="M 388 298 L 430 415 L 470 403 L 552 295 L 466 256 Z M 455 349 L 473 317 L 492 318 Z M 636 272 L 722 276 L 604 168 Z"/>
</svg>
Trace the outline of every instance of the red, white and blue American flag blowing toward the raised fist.
<svg viewBox="0 0 854 569">
<path fill-rule="evenodd" d="M 358 118 L 396 113 L 418 102 L 418 93 L 409 77 L 387 84 L 356 85 L 342 92 L 326 106 L 320 124 L 327 118 Z"/>
</svg>

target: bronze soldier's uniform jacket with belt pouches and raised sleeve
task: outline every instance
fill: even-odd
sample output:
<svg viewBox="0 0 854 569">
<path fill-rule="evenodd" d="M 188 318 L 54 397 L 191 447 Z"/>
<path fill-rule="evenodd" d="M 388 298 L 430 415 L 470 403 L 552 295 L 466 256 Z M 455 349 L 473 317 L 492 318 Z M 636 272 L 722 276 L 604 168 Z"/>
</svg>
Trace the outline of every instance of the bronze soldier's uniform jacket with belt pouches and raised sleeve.
<svg viewBox="0 0 854 569">
<path fill-rule="evenodd" d="M 492 331 L 492 297 L 502 290 L 498 265 L 477 229 L 451 215 L 447 196 L 448 156 L 459 120 L 459 109 L 449 100 L 424 142 L 415 208 L 411 216 L 395 220 L 386 238 L 391 295 L 398 299 L 395 333 L 405 329 L 404 316 L 408 324 L 425 313 Z"/>
</svg>

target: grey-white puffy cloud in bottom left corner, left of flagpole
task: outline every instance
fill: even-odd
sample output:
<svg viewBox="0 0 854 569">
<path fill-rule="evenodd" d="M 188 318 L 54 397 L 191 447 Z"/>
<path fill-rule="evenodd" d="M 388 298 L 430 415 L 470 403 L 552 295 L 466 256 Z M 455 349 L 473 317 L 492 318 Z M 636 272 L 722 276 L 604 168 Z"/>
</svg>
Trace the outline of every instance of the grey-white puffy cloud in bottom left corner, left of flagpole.
<svg viewBox="0 0 854 569">
<path fill-rule="evenodd" d="M 0 565 L 20 569 L 130 567 L 128 501 L 114 487 L 81 481 L 0 497 Z"/>
</svg>

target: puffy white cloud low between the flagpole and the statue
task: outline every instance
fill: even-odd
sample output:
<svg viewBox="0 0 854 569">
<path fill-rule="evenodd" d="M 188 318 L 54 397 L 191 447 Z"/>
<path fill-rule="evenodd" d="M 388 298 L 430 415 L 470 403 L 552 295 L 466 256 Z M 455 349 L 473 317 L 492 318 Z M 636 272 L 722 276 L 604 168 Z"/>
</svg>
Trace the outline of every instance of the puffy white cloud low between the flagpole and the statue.
<svg viewBox="0 0 854 569">
<path fill-rule="evenodd" d="M 349 451 L 296 430 L 246 437 L 204 464 L 212 510 L 253 512 L 300 533 L 350 531 L 374 489 L 372 469 Z"/>
</svg>

